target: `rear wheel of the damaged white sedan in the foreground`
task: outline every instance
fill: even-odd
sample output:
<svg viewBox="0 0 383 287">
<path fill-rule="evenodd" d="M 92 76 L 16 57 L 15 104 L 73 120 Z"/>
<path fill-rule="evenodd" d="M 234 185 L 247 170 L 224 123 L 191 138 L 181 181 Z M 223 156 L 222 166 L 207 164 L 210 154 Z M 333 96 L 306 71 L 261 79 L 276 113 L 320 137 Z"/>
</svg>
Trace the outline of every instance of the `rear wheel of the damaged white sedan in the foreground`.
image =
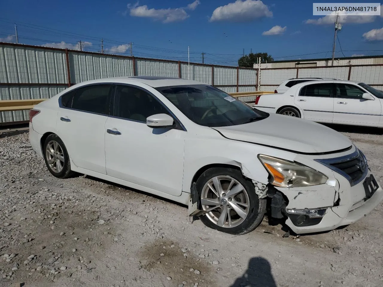
<svg viewBox="0 0 383 287">
<path fill-rule="evenodd" d="M 58 135 L 48 135 L 43 148 L 45 164 L 51 174 L 57 178 L 69 178 L 75 174 L 70 170 L 67 149 Z"/>
</svg>

